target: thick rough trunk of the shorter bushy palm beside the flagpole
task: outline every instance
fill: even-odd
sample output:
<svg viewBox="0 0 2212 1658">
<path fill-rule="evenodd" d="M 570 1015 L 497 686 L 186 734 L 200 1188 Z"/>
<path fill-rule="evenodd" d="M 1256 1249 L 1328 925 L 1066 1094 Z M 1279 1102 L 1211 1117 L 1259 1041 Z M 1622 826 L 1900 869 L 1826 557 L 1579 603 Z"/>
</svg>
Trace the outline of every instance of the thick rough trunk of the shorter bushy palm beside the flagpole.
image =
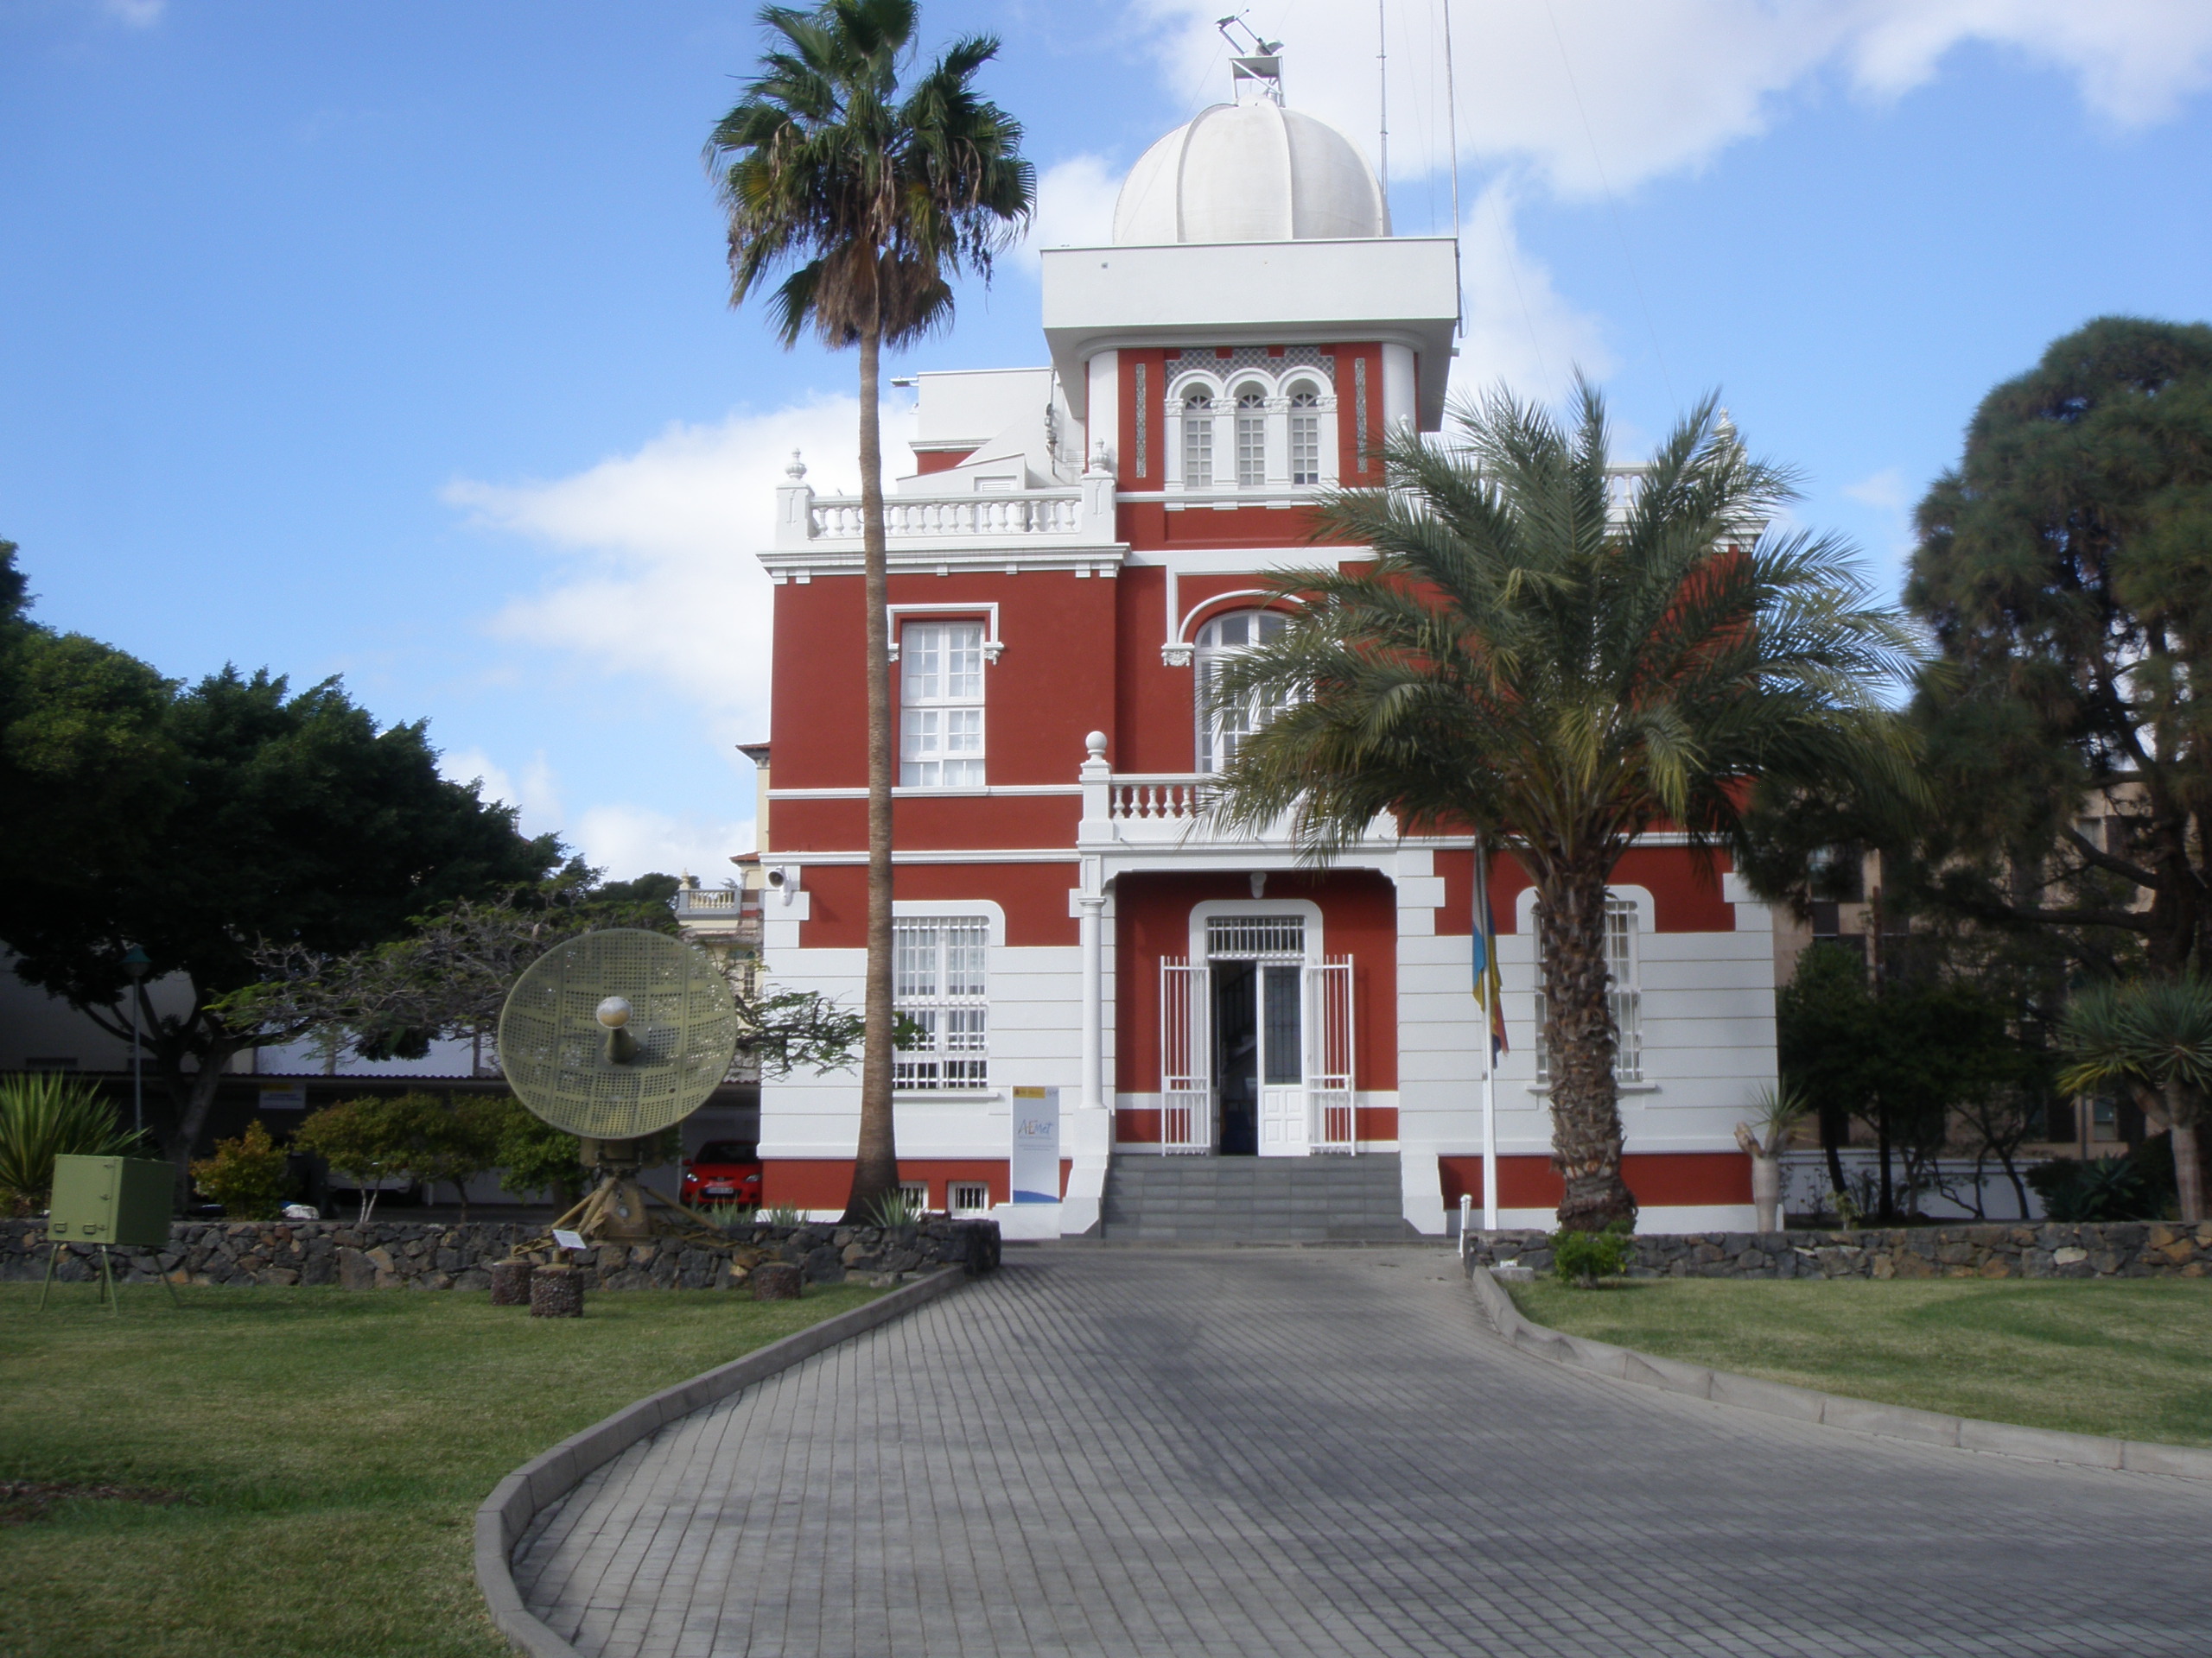
<svg viewBox="0 0 2212 1658">
<path fill-rule="evenodd" d="M 1551 1068 L 1551 1165 L 1566 1183 L 1564 1231 L 1635 1225 L 1621 1180 L 1621 1108 L 1613 1077 L 1617 1032 L 1606 997 L 1606 869 L 1568 860 L 1537 880 L 1535 924 L 1544 944 L 1544 1052 Z"/>
</svg>

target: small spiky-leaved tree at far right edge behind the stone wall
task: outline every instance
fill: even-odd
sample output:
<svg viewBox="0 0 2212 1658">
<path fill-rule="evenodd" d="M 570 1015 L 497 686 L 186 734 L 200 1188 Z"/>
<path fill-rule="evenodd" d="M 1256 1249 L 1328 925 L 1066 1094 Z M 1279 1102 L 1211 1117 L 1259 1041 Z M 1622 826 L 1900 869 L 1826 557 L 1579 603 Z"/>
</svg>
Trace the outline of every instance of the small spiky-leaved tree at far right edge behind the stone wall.
<svg viewBox="0 0 2212 1658">
<path fill-rule="evenodd" d="M 2124 1083 L 2166 1119 L 2181 1218 L 2203 1220 L 2197 1121 L 2212 1092 L 2212 984 L 2194 975 L 2095 984 L 2066 1008 L 2059 1048 L 2068 1057 L 2059 1088 L 2068 1094 Z"/>
</svg>

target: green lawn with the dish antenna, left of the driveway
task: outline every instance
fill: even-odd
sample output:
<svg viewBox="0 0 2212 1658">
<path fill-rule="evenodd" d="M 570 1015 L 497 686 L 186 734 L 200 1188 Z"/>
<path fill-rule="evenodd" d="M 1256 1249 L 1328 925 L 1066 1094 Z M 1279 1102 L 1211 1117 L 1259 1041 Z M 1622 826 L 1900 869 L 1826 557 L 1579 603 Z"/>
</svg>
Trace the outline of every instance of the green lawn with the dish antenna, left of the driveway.
<svg viewBox="0 0 2212 1658">
<path fill-rule="evenodd" d="M 0 1479 L 181 1492 L 0 1523 L 11 1658 L 493 1658 L 476 1505 L 611 1410 L 872 1300 L 0 1284 Z M 15 1512 L 22 1512 L 20 1508 Z M 7 1514 L 0 1508 L 0 1514 Z"/>
</svg>

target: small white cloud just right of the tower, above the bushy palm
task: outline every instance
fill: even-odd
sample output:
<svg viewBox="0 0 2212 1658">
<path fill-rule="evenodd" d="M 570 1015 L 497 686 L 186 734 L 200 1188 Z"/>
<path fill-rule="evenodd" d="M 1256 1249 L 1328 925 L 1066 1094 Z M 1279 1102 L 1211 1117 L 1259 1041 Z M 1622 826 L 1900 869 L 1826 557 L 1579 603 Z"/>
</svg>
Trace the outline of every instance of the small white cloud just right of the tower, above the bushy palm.
<svg viewBox="0 0 2212 1658">
<path fill-rule="evenodd" d="M 1557 402 L 1575 369 L 1593 380 L 1613 374 L 1597 316 L 1575 309 L 1551 285 L 1551 270 L 1522 252 L 1511 186 L 1500 181 L 1475 197 L 1460 261 L 1467 332 L 1451 365 L 1453 396 L 1480 396 L 1504 380 L 1522 398 Z"/>
</svg>

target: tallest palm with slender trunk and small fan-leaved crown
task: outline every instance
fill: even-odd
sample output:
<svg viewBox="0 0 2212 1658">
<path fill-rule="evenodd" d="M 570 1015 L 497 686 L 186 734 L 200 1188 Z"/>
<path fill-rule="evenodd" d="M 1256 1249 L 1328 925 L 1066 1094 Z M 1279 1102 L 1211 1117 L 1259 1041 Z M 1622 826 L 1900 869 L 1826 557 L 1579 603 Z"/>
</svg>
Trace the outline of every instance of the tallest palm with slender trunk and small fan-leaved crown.
<svg viewBox="0 0 2212 1658">
<path fill-rule="evenodd" d="M 765 7 L 770 51 L 706 146 L 730 217 L 730 303 L 774 272 L 785 349 L 812 332 L 860 347 L 860 520 L 867 604 L 867 993 L 860 1143 L 847 1220 L 898 1189 L 891 1125 L 891 665 L 883 546 L 885 345 L 951 321 L 951 276 L 991 276 L 1035 203 L 1022 126 L 975 93 L 998 40 L 969 35 L 900 88 L 914 0 Z"/>
</svg>

